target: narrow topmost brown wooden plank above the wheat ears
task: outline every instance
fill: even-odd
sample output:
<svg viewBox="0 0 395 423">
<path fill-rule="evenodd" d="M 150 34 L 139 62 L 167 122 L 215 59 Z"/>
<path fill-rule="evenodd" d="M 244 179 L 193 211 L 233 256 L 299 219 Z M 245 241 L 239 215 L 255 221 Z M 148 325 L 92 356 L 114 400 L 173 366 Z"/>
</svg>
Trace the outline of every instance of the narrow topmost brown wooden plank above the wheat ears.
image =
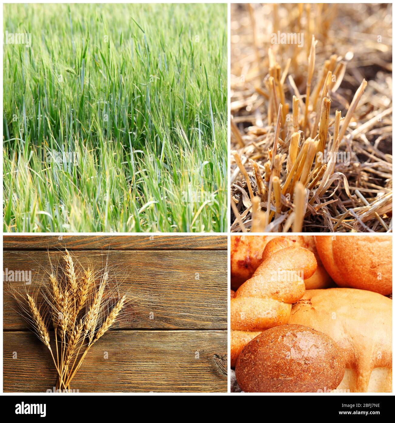
<svg viewBox="0 0 395 423">
<path fill-rule="evenodd" d="M 226 236 L 4 235 L 4 250 L 226 250 Z"/>
</svg>

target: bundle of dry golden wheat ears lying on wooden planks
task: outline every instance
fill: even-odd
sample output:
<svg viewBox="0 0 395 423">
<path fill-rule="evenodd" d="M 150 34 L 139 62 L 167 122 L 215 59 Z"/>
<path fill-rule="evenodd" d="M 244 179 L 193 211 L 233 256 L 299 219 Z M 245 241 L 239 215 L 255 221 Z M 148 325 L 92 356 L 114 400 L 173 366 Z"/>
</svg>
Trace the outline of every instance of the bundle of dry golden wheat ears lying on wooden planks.
<svg viewBox="0 0 395 423">
<path fill-rule="evenodd" d="M 77 275 L 68 250 L 63 257 L 63 274 L 50 273 L 49 283 L 34 294 L 10 290 L 33 331 L 49 349 L 57 372 L 56 389 L 68 392 L 90 348 L 112 327 L 125 307 L 126 296 L 114 296 L 117 290 L 110 287 L 107 272 L 101 272 L 97 278 L 88 268 Z M 44 299 L 40 306 L 38 297 Z M 54 339 L 50 338 L 51 324 Z"/>
</svg>

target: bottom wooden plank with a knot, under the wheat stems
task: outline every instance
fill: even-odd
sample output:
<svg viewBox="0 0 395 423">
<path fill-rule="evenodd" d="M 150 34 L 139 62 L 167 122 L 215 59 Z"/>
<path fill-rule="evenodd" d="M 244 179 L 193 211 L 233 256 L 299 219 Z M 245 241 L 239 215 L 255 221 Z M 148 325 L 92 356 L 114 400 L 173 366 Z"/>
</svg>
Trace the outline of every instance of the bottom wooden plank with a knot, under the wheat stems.
<svg viewBox="0 0 395 423">
<path fill-rule="evenodd" d="M 87 354 L 71 388 L 226 392 L 226 340 L 226 331 L 110 331 Z M 53 389 L 56 370 L 33 333 L 4 332 L 3 354 L 4 392 Z"/>
</svg>

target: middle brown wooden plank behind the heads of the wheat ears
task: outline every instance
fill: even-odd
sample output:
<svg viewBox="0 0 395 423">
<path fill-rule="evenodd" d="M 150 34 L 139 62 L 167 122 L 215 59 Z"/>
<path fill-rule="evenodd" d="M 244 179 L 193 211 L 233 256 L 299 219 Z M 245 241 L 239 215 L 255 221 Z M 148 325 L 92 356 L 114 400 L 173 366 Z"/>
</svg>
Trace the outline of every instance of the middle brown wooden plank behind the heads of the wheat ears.
<svg viewBox="0 0 395 423">
<path fill-rule="evenodd" d="M 23 281 L 9 281 L 13 272 L 31 271 L 29 290 L 34 290 L 37 283 L 47 280 L 50 263 L 56 267 L 61 259 L 64 268 L 62 255 L 57 251 L 4 251 L 4 329 L 27 327 L 7 290 L 8 283 L 23 289 Z M 128 292 L 131 302 L 120 319 L 120 328 L 227 327 L 226 251 L 75 251 L 73 257 L 84 268 L 101 269 L 107 262 L 109 280 L 119 281 L 120 292 Z"/>
</svg>

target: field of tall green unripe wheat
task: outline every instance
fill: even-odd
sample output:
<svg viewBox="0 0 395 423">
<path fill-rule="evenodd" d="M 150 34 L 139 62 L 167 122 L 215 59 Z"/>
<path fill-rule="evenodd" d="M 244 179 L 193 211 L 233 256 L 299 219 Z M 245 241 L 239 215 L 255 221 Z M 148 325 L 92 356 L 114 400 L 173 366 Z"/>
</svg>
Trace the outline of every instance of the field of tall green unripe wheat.
<svg viewBox="0 0 395 423">
<path fill-rule="evenodd" d="M 226 4 L 3 12 L 4 231 L 226 231 Z"/>
</svg>

